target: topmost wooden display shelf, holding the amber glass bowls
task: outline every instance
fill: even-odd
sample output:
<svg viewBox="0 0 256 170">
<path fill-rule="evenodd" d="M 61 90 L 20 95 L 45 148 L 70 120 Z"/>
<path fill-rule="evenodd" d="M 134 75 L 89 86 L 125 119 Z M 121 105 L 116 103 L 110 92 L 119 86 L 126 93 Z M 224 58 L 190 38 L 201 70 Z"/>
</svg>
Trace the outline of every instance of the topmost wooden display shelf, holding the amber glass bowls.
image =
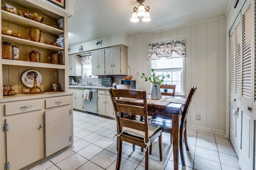
<svg viewBox="0 0 256 170">
<path fill-rule="evenodd" d="M 12 14 L 11 12 L 1 10 L 1 13 L 2 13 L 2 20 L 6 21 L 6 22 L 10 22 L 12 24 L 16 24 L 16 25 L 23 26 L 26 28 L 37 28 L 37 29 L 41 30 L 41 32 L 45 32 L 47 34 L 52 34 L 55 36 L 60 36 L 60 35 L 64 34 L 63 30 L 48 26 L 46 24 L 42 24 L 40 22 L 30 20 L 23 16 Z M 20 15 L 23 15 L 23 14 L 20 14 Z"/>
</svg>

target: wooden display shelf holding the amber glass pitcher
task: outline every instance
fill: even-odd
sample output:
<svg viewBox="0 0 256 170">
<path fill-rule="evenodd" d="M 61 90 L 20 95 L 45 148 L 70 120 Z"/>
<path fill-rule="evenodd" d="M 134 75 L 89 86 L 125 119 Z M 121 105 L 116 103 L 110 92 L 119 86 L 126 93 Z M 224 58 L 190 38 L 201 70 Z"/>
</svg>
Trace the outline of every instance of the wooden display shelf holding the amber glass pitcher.
<svg viewBox="0 0 256 170">
<path fill-rule="evenodd" d="M 10 42 L 13 44 L 19 44 L 19 45 L 25 45 L 28 47 L 35 47 L 35 48 L 41 48 L 41 49 L 47 49 L 50 51 L 63 51 L 64 48 L 58 47 L 55 45 L 48 45 L 45 43 L 39 43 L 39 42 L 34 42 L 30 40 L 25 40 L 23 38 L 16 38 L 8 35 L 3 35 L 2 34 L 2 42 Z"/>
</svg>

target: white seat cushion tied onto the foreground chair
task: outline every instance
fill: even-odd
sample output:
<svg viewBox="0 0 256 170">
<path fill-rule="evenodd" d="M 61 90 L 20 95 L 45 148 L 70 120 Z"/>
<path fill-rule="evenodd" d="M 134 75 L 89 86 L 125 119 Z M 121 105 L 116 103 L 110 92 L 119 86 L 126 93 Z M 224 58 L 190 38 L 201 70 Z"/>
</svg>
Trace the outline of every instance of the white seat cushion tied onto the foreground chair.
<svg viewBox="0 0 256 170">
<path fill-rule="evenodd" d="M 160 126 L 158 125 L 154 125 L 152 123 L 148 123 L 148 136 L 152 136 L 154 134 L 154 132 L 156 132 L 156 130 L 158 130 L 160 128 Z M 140 130 L 136 130 L 133 128 L 128 128 L 128 127 L 123 127 L 122 132 L 124 132 L 124 130 L 126 130 L 125 132 L 133 135 L 133 136 L 137 136 L 140 138 L 145 138 L 145 132 L 142 132 Z"/>
</svg>

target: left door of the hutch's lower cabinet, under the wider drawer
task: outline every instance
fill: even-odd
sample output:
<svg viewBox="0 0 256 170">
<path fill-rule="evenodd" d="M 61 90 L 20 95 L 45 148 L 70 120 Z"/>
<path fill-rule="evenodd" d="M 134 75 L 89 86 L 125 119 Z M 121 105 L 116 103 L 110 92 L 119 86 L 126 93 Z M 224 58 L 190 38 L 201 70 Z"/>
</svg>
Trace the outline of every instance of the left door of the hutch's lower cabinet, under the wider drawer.
<svg viewBox="0 0 256 170">
<path fill-rule="evenodd" d="M 7 162 L 12 170 L 44 158 L 44 112 L 6 119 Z"/>
</svg>

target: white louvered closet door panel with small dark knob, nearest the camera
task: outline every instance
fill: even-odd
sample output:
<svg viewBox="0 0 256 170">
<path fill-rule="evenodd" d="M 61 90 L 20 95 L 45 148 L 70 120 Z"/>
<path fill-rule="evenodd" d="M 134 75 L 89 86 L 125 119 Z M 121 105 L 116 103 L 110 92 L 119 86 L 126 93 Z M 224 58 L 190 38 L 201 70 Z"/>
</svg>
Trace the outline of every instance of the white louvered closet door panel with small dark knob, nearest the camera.
<svg viewBox="0 0 256 170">
<path fill-rule="evenodd" d="M 252 141 L 252 113 L 248 108 L 252 108 L 252 42 L 254 33 L 252 32 L 254 20 L 252 19 L 251 1 L 246 1 L 242 10 L 242 84 L 241 84 L 241 144 L 239 151 L 239 164 L 241 169 L 249 170 L 251 167 L 251 141 Z"/>
</svg>

